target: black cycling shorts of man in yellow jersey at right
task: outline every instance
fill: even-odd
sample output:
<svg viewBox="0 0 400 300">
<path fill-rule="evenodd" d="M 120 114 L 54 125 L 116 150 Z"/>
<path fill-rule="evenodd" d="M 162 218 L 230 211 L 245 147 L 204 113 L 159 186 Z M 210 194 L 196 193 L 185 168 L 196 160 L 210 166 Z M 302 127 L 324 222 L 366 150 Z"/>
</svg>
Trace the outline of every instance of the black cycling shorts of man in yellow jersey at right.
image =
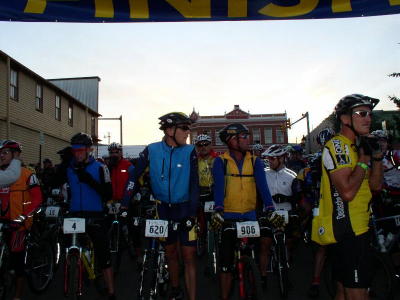
<svg viewBox="0 0 400 300">
<path fill-rule="evenodd" d="M 369 288 L 373 267 L 373 249 L 370 234 L 344 238 L 331 247 L 333 257 L 333 276 L 345 288 Z"/>
</svg>

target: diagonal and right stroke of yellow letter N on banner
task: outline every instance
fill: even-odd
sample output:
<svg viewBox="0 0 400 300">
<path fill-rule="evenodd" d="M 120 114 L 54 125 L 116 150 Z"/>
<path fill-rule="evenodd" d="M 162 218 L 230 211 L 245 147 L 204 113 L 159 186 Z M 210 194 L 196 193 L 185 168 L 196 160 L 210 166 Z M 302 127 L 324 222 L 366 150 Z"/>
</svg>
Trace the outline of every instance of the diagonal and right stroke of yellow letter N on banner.
<svg viewBox="0 0 400 300">
<path fill-rule="evenodd" d="M 185 18 L 211 18 L 211 0 L 166 0 Z"/>
</svg>

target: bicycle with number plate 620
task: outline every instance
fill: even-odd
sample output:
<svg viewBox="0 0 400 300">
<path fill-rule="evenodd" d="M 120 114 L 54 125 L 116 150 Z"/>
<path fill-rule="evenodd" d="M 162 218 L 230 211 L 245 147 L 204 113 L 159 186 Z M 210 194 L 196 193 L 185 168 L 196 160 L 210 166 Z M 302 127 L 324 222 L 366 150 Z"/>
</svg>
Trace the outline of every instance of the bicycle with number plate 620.
<svg viewBox="0 0 400 300">
<path fill-rule="evenodd" d="M 169 273 L 166 263 L 165 249 L 160 238 L 168 237 L 168 228 L 177 230 L 179 223 L 155 219 L 155 208 L 146 210 L 147 217 L 134 217 L 134 226 L 144 225 L 144 236 L 148 246 L 144 249 L 143 264 L 139 271 L 138 299 L 154 300 L 166 294 Z"/>
</svg>

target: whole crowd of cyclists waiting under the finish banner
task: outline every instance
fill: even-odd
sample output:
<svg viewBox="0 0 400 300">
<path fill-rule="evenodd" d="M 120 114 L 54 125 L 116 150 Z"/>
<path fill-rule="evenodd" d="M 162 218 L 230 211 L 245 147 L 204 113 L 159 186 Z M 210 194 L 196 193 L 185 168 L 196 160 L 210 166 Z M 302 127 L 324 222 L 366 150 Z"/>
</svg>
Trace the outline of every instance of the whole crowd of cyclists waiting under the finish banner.
<svg viewBox="0 0 400 300">
<path fill-rule="evenodd" d="M 378 102 L 359 94 L 342 98 L 335 107 L 336 128 L 319 132 L 320 151 L 308 155 L 299 145 L 276 144 L 266 149 L 261 144 L 250 145 L 250 131 L 240 123 L 219 132 L 228 148 L 225 153 L 214 152 L 207 134 L 199 134 L 193 145 L 187 144 L 192 120 L 180 112 L 161 116 L 162 140 L 148 145 L 132 160 L 123 157 L 118 143 L 108 146 L 105 160 L 95 159 L 92 138 L 78 133 L 70 146 L 58 152 L 59 164 L 53 166 L 46 159 L 43 169 L 35 171 L 21 163 L 20 143 L 2 141 L 0 218 L 11 224 L 6 237 L 9 268 L 15 273 L 13 299 L 23 298 L 25 237 L 35 222 L 35 212 L 47 204 L 54 189 L 63 191 L 58 199 L 68 216 L 91 220 L 86 233 L 108 299 L 118 296 L 114 287 L 117 267 L 112 265 L 110 236 L 106 234 L 112 222 L 107 214 L 111 203 L 119 204 L 121 222 L 127 224 L 132 242 L 127 246 L 132 248 L 138 270 L 143 267 L 145 244 L 143 230 L 133 226 L 132 220 L 144 217 L 143 208 L 152 206 L 155 218 L 179 223 L 177 228 L 168 227 L 168 234 L 160 238 L 166 254 L 168 299 L 196 299 L 197 275 L 202 274 L 198 272 L 198 240 L 208 231 L 220 232 L 216 242 L 217 296 L 230 299 L 238 259 L 238 235 L 226 230 L 232 223 L 260 224 L 250 240 L 257 249 L 257 278 L 264 290 L 268 291 L 271 280 L 274 232 L 282 229 L 289 266 L 299 241 L 313 243 L 317 249 L 309 297 L 319 296 L 329 249 L 337 282 L 335 299 L 368 299 L 374 272 L 371 210 L 379 217 L 400 213 L 399 150 L 392 148 L 385 131 L 370 132 L 372 110 Z M 205 216 L 204 211 L 210 214 Z M 294 212 L 296 217 L 286 219 L 288 214 L 282 211 Z M 399 271 L 399 256 L 397 261 L 396 255 L 393 257 Z"/>
</svg>

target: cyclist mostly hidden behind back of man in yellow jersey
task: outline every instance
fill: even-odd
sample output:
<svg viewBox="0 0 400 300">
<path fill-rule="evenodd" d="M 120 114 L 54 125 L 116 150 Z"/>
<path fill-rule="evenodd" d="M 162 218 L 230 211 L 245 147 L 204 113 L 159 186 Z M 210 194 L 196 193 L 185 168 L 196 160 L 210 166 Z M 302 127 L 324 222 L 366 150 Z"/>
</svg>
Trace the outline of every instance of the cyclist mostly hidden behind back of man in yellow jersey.
<svg viewBox="0 0 400 300">
<path fill-rule="evenodd" d="M 325 143 L 335 135 L 332 128 L 325 128 L 317 135 L 317 143 L 321 151 Z M 318 209 L 319 195 L 321 186 L 321 151 L 314 154 L 310 160 L 310 166 L 304 168 L 297 175 L 298 179 L 298 192 L 302 194 L 301 205 L 304 207 L 307 216 L 312 216 L 311 210 Z M 321 282 L 321 272 L 326 258 L 326 247 L 319 245 L 315 253 L 315 265 L 313 279 L 308 290 L 308 295 L 311 298 L 319 296 L 319 287 Z"/>
</svg>

